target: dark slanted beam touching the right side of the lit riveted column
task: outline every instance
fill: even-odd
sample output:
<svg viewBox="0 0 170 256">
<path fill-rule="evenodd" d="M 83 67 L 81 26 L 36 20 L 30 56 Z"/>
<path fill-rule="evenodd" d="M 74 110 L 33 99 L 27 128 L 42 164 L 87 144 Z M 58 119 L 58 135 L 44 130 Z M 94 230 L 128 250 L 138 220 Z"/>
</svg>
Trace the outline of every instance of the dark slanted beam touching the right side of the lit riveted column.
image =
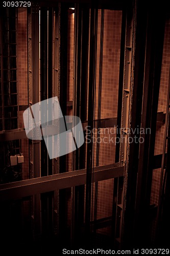
<svg viewBox="0 0 170 256">
<path fill-rule="evenodd" d="M 130 129 L 140 127 L 140 115 L 142 105 L 142 87 L 138 86 L 143 82 L 144 60 L 145 60 L 145 36 L 147 28 L 147 9 L 140 2 L 135 2 L 133 9 L 133 44 L 132 44 L 132 63 L 130 74 Z M 137 11 L 140 10 L 140 11 Z M 129 48 L 127 48 L 129 51 Z M 135 51 L 135 54 L 134 54 Z M 128 59 L 127 63 L 128 65 Z M 138 134 L 131 134 L 139 137 Z M 131 246 L 134 240 L 134 216 L 135 216 L 135 199 L 136 199 L 136 183 L 137 183 L 137 167 L 138 167 L 139 143 L 131 143 L 128 146 L 127 165 L 125 171 L 124 195 L 126 196 L 123 216 L 123 246 Z"/>
</svg>

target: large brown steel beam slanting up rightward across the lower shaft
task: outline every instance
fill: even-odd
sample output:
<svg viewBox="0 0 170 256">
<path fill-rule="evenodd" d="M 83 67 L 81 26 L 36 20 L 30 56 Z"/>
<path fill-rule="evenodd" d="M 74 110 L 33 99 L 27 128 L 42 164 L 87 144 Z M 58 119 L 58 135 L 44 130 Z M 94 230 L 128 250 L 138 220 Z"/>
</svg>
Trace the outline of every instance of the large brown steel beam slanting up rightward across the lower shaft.
<svg viewBox="0 0 170 256">
<path fill-rule="evenodd" d="M 94 167 L 93 182 L 124 175 L 124 166 L 109 164 Z M 0 185 L 0 201 L 13 200 L 86 183 L 86 169 Z"/>
</svg>

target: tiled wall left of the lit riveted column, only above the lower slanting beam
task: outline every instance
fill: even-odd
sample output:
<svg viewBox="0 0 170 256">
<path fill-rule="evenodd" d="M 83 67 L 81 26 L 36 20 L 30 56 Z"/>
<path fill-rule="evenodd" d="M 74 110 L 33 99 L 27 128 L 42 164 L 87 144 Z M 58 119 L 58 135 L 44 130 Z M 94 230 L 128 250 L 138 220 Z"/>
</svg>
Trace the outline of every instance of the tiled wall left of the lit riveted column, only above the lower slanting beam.
<svg viewBox="0 0 170 256">
<path fill-rule="evenodd" d="M 100 24 L 101 13 L 98 19 L 98 55 L 96 72 L 96 108 L 95 118 L 98 118 L 98 83 L 100 58 Z M 105 10 L 104 14 L 104 41 L 103 41 L 103 71 L 101 119 L 117 117 L 118 80 L 120 38 L 122 26 L 122 11 Z M 100 165 L 114 163 L 116 130 L 102 129 L 100 141 Z"/>
</svg>

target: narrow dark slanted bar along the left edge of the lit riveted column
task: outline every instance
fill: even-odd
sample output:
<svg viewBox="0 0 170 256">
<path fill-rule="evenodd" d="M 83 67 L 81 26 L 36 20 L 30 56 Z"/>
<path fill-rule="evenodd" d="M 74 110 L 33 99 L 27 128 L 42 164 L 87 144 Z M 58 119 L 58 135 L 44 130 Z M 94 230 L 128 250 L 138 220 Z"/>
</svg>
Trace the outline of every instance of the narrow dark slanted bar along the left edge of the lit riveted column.
<svg viewBox="0 0 170 256">
<path fill-rule="evenodd" d="M 131 29 L 129 26 L 129 20 L 131 22 L 131 17 L 129 14 L 129 10 L 132 8 L 130 5 L 129 8 L 127 8 L 127 5 L 124 6 L 122 10 L 122 29 L 121 29 L 121 42 L 120 42 L 120 65 L 119 65 L 119 86 L 118 86 L 118 104 L 117 104 L 117 129 L 116 129 L 116 140 L 119 141 L 119 143 L 116 143 L 116 149 L 115 149 L 115 162 L 119 162 L 120 158 L 122 159 L 122 155 L 120 156 L 120 146 L 121 146 L 121 126 L 122 126 L 122 108 L 123 108 L 123 89 L 125 87 L 125 79 L 124 79 L 124 70 L 125 70 L 125 56 L 126 51 L 130 51 L 131 49 L 126 49 L 126 46 L 130 46 L 129 40 L 127 40 L 127 33 L 129 34 L 131 32 Z M 130 66 L 127 67 L 127 72 Z M 127 86 L 127 84 L 126 84 Z M 116 231 L 117 229 L 121 228 L 120 222 L 119 222 L 119 216 L 120 211 L 122 211 L 123 207 L 118 207 L 118 184 L 120 185 L 119 178 L 114 178 L 114 186 L 113 186 L 113 202 L 112 202 L 112 239 L 114 240 L 114 244 L 120 243 L 120 237 L 121 234 Z M 121 183 L 122 184 L 122 183 Z M 119 186 L 119 189 L 122 189 L 122 186 Z M 123 189 L 121 190 L 123 193 Z M 122 198 L 122 197 L 121 197 Z M 123 204 L 123 202 L 119 202 L 120 205 Z M 116 239 L 116 240 L 115 240 Z"/>
</svg>

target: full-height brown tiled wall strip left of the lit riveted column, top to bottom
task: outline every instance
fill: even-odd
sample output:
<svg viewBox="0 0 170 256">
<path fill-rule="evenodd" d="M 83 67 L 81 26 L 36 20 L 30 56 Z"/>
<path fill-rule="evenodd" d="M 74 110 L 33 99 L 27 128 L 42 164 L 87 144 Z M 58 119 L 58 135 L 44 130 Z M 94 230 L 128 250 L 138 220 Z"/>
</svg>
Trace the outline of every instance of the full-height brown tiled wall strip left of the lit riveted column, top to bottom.
<svg viewBox="0 0 170 256">
<path fill-rule="evenodd" d="M 101 15 L 99 14 L 99 27 Z M 103 73 L 102 73 L 102 103 L 101 119 L 117 117 L 118 80 L 120 38 L 122 26 L 122 11 L 105 10 L 104 16 L 104 41 L 103 41 Z M 99 32 L 100 33 L 100 29 Z M 99 36 L 98 36 L 99 40 Z M 98 47 L 100 44 L 98 44 Z M 99 62 L 99 51 L 98 60 Z M 98 64 L 99 66 L 99 64 Z M 97 67 L 98 67 L 97 66 Z M 97 86 L 99 72 L 97 71 Z M 98 94 L 98 87 L 96 90 Z M 96 97 L 98 99 L 98 97 Z M 98 101 L 96 101 L 97 103 Z M 97 112 L 97 110 L 96 110 Z M 97 115 L 96 115 L 97 118 Z M 115 161 L 116 129 L 101 129 L 99 165 L 107 165 Z M 100 181 L 98 186 L 98 214 L 97 219 L 112 215 L 114 179 Z M 99 232 L 110 232 L 110 227 L 102 228 Z"/>
</svg>

